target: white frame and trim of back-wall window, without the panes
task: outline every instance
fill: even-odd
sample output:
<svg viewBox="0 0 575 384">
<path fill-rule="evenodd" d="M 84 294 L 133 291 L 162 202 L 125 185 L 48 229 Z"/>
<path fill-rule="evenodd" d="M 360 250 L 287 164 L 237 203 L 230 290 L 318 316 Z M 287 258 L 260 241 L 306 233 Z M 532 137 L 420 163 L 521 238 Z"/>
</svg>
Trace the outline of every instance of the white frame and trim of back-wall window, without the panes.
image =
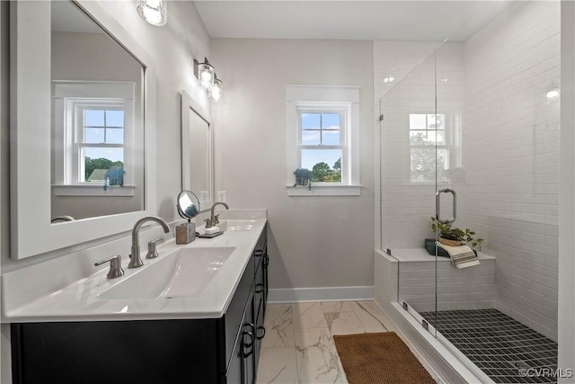
<svg viewBox="0 0 575 384">
<path fill-rule="evenodd" d="M 358 86 L 286 86 L 286 188 L 289 196 L 358 196 L 359 174 L 359 90 Z M 301 112 L 341 111 L 345 114 L 341 141 L 341 183 L 313 183 L 312 189 L 294 187 L 294 171 L 301 166 Z M 328 147 L 323 146 L 326 149 Z M 345 171 L 344 171 L 345 170 Z"/>
</svg>

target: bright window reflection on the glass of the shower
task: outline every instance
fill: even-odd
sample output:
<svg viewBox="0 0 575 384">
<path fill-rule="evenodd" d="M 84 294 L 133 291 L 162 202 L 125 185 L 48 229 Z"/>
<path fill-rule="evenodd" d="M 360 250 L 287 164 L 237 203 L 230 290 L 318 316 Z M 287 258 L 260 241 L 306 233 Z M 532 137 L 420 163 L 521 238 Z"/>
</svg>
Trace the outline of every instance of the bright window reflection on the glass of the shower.
<svg viewBox="0 0 575 384">
<path fill-rule="evenodd" d="M 410 113 L 412 183 L 449 183 L 450 169 L 459 166 L 459 130 L 456 114 Z"/>
</svg>

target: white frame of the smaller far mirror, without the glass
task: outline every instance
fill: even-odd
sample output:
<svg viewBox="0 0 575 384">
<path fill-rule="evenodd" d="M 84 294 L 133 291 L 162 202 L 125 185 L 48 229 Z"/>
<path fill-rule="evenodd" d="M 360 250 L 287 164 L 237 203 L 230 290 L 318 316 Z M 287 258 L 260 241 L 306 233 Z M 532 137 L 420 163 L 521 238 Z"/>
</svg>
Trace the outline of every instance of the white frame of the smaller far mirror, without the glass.
<svg viewBox="0 0 575 384">
<path fill-rule="evenodd" d="M 181 91 L 181 190 L 193 192 L 192 181 L 190 176 L 190 153 L 187 149 L 190 147 L 192 139 L 190 138 L 190 110 L 197 113 L 199 117 L 208 123 L 208 188 L 209 200 L 199 201 L 200 212 L 211 210 L 214 205 L 214 195 L 216 187 L 214 184 L 214 124 L 212 124 L 211 114 L 208 109 L 202 107 L 194 101 L 190 94 Z M 195 193 L 194 193 L 195 194 Z"/>
</svg>

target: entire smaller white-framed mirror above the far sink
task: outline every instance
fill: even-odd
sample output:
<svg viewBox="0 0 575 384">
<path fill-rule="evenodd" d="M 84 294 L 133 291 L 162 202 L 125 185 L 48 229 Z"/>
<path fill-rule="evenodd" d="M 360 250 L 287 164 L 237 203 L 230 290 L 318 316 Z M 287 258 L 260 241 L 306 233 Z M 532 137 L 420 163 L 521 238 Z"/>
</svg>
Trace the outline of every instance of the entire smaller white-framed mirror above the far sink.
<svg viewBox="0 0 575 384">
<path fill-rule="evenodd" d="M 181 92 L 181 189 L 193 192 L 202 211 L 214 203 L 214 127 L 209 112 Z"/>
</svg>

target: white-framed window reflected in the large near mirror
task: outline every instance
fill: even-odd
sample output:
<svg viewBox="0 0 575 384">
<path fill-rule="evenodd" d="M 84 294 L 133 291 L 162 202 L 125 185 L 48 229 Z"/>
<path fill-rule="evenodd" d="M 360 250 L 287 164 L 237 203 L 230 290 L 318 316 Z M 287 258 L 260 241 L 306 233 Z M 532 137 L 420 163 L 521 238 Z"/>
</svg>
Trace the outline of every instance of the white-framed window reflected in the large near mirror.
<svg viewBox="0 0 575 384">
<path fill-rule="evenodd" d="M 134 124 L 134 84 L 54 82 L 54 184 L 58 195 L 86 188 L 135 187 L 134 156 L 143 130 Z M 71 187 L 84 189 L 71 189 Z"/>
</svg>

